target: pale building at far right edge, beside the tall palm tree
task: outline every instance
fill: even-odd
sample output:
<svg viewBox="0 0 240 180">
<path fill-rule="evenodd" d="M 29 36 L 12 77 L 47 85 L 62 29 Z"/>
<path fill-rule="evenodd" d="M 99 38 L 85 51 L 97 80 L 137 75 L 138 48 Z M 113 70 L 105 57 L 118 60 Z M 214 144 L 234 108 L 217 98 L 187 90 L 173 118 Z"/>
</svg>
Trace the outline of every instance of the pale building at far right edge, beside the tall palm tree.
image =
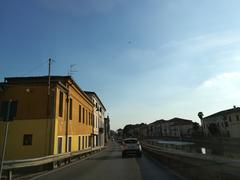
<svg viewBox="0 0 240 180">
<path fill-rule="evenodd" d="M 203 133 L 205 136 L 221 136 L 221 137 L 240 137 L 240 108 L 223 110 L 204 117 Z"/>
</svg>

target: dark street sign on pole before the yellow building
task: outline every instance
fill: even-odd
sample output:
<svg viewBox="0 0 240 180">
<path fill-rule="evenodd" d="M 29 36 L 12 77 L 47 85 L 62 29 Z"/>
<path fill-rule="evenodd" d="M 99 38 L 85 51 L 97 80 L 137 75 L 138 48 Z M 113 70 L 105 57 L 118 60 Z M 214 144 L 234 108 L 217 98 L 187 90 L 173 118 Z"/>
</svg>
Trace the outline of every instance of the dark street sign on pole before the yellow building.
<svg viewBox="0 0 240 180">
<path fill-rule="evenodd" d="M 2 101 L 1 113 L 2 121 L 13 121 L 17 114 L 17 101 Z"/>
</svg>

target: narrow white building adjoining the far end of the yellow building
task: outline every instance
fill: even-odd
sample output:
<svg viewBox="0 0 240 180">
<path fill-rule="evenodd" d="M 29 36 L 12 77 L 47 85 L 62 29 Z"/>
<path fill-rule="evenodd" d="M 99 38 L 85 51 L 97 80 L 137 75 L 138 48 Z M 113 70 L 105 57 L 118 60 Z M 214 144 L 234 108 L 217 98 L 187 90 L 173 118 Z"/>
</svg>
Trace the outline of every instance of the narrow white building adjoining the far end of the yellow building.
<svg viewBox="0 0 240 180">
<path fill-rule="evenodd" d="M 93 136 L 94 142 L 93 146 L 104 146 L 105 137 L 104 137 L 104 117 L 106 108 L 104 107 L 102 101 L 95 92 L 85 91 L 94 104 L 94 113 L 93 113 Z"/>
</svg>

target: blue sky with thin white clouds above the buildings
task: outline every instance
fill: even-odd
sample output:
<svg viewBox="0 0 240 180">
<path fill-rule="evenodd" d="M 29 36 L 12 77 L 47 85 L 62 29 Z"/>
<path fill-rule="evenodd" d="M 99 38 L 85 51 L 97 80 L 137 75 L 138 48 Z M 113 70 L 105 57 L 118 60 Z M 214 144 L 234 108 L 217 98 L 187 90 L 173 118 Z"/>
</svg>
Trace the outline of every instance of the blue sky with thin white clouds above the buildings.
<svg viewBox="0 0 240 180">
<path fill-rule="evenodd" d="M 67 75 L 113 129 L 239 106 L 238 0 L 2 0 L 0 78 Z"/>
</svg>

